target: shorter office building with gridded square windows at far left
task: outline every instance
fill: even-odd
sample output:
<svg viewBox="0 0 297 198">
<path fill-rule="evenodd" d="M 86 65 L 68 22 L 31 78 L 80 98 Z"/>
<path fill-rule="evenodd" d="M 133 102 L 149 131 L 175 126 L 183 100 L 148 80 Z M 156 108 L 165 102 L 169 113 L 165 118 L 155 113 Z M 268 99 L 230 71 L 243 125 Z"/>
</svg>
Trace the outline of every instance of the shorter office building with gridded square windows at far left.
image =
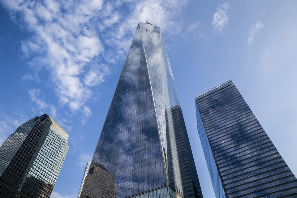
<svg viewBox="0 0 297 198">
<path fill-rule="evenodd" d="M 49 198 L 68 136 L 47 114 L 19 126 L 0 147 L 0 197 Z"/>
</svg>

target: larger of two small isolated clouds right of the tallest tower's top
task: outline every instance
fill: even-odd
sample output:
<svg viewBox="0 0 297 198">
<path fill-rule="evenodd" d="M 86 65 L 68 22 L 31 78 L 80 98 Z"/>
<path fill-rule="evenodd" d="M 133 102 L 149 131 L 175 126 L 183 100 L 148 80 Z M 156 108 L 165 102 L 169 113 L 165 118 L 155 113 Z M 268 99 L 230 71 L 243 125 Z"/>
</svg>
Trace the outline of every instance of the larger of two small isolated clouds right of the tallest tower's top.
<svg viewBox="0 0 297 198">
<path fill-rule="evenodd" d="M 229 17 L 227 16 L 227 10 L 229 7 L 229 2 L 226 2 L 223 5 L 218 6 L 217 11 L 213 14 L 213 21 L 211 24 L 219 32 L 222 32 L 228 23 Z"/>
</svg>

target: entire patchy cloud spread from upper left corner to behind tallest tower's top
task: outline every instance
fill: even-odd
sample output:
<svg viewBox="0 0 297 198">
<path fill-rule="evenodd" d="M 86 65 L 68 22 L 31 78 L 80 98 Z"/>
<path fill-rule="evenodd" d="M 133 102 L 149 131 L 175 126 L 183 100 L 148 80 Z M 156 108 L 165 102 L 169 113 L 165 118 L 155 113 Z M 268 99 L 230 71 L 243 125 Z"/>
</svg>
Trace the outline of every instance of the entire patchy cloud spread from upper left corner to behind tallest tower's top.
<svg viewBox="0 0 297 198">
<path fill-rule="evenodd" d="M 38 72 L 47 71 L 59 103 L 87 118 L 94 87 L 110 74 L 110 64 L 123 61 L 138 21 L 148 19 L 176 34 L 181 22 L 175 16 L 187 1 L 3 0 L 2 4 L 24 31 L 32 33 L 21 42 L 21 49 L 37 73 L 25 74 L 22 80 L 38 81 Z M 123 7 L 127 12 L 120 12 Z"/>
</svg>

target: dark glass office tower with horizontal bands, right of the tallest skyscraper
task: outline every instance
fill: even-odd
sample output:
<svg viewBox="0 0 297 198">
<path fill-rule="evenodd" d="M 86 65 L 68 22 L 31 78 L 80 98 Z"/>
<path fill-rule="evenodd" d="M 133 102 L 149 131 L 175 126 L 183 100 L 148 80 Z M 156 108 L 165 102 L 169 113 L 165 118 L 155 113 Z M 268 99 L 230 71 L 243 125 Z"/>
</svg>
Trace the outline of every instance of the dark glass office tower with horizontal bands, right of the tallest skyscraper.
<svg viewBox="0 0 297 198">
<path fill-rule="evenodd" d="M 231 80 L 195 97 L 217 198 L 297 197 L 297 180 Z"/>
</svg>

